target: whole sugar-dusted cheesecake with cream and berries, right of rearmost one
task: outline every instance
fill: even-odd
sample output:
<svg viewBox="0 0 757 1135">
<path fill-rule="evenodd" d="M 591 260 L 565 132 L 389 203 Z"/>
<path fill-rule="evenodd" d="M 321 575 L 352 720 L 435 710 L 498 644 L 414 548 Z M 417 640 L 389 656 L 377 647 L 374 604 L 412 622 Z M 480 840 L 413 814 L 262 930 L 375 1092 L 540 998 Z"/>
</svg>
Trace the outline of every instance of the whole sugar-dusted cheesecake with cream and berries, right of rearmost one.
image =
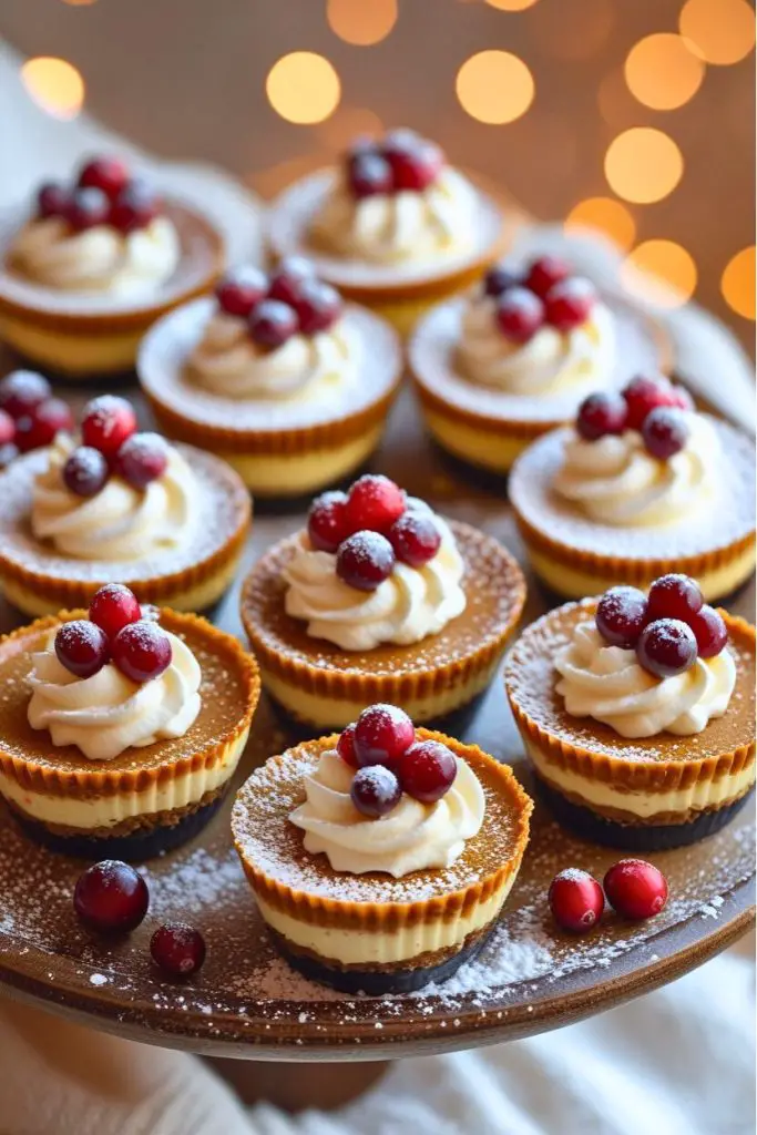
<svg viewBox="0 0 757 1135">
<path fill-rule="evenodd" d="M 595 389 L 672 364 L 662 328 L 556 257 L 495 264 L 419 321 L 409 362 L 427 427 L 453 456 L 503 474 Z"/>
</svg>

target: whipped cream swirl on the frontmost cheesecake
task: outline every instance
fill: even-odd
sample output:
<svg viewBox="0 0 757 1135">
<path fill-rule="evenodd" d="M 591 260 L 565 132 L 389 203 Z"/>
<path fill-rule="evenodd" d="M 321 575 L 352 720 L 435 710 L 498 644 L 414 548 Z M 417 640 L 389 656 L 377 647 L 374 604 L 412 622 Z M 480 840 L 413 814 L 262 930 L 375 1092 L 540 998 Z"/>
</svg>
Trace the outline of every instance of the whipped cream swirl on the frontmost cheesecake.
<svg viewBox="0 0 757 1135">
<path fill-rule="evenodd" d="M 333 871 L 377 871 L 402 878 L 413 871 L 449 867 L 480 830 L 486 806 L 478 777 L 456 760 L 452 788 L 436 804 L 403 792 L 388 815 L 369 819 L 350 797 L 354 770 L 329 749 L 305 777 L 305 801 L 289 819 L 305 832 L 305 850 L 323 852 Z"/>
</svg>

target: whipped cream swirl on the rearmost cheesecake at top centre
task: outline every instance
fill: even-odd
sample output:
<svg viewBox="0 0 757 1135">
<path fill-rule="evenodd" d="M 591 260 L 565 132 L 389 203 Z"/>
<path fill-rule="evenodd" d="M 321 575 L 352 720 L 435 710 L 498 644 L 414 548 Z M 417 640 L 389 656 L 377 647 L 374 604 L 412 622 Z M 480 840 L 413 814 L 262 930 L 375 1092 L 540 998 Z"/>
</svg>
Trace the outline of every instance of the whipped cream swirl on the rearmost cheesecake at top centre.
<svg viewBox="0 0 757 1135">
<path fill-rule="evenodd" d="M 356 199 L 342 178 L 316 219 L 313 235 L 340 255 L 377 264 L 435 260 L 470 246 L 476 211 L 473 186 L 448 166 L 420 192 Z"/>
</svg>

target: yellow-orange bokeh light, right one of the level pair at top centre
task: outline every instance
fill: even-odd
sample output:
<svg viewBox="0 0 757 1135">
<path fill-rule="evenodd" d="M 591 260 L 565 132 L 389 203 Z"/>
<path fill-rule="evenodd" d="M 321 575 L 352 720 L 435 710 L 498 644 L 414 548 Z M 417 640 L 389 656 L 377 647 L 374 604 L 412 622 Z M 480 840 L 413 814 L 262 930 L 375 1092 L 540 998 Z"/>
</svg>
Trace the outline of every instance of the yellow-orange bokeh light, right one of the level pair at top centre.
<svg viewBox="0 0 757 1135">
<path fill-rule="evenodd" d="M 455 90 L 471 118 L 491 125 L 513 123 L 533 101 L 531 72 L 510 51 L 471 56 L 457 72 Z"/>
</svg>

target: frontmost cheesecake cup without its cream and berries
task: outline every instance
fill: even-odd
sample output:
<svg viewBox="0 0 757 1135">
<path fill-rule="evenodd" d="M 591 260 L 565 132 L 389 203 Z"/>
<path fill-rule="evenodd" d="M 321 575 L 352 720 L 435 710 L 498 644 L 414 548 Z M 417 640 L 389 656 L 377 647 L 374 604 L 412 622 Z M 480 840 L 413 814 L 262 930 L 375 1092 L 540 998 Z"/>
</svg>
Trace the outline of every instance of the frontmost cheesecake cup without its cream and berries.
<svg viewBox="0 0 757 1135">
<path fill-rule="evenodd" d="M 528 842 L 532 804 L 507 765 L 443 733 L 417 735 L 448 746 L 483 788 L 481 830 L 452 867 L 351 875 L 305 851 L 288 817 L 337 734 L 272 757 L 232 812 L 234 843 L 276 947 L 308 977 L 345 992 L 404 992 L 451 976 L 483 945 Z"/>
</svg>

